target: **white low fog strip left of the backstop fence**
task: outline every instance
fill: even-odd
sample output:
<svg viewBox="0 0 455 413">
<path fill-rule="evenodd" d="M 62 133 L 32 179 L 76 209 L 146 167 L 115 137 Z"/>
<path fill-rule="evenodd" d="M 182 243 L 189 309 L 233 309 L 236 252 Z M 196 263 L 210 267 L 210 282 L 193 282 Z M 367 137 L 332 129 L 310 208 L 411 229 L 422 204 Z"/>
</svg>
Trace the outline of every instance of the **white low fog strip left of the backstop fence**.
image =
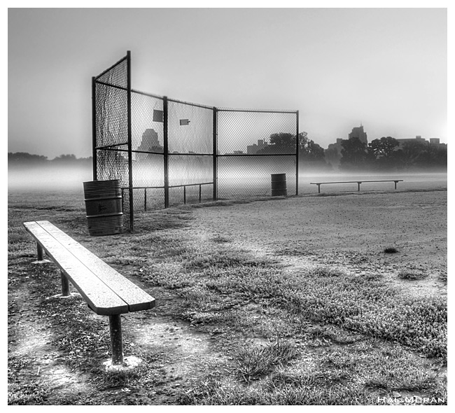
<svg viewBox="0 0 455 413">
<path fill-rule="evenodd" d="M 78 190 L 92 178 L 92 167 L 87 165 L 8 167 L 8 191 Z"/>
</svg>

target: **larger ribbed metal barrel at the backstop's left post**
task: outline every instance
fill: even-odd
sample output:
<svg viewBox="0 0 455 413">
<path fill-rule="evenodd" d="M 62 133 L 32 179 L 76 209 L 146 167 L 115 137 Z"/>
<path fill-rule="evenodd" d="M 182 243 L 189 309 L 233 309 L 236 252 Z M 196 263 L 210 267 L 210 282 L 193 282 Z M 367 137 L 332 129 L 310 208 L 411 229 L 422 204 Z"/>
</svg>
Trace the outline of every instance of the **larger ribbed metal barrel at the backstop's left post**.
<svg viewBox="0 0 455 413">
<path fill-rule="evenodd" d="M 123 230 L 120 181 L 84 182 L 88 232 L 94 237 L 120 234 Z"/>
</svg>

